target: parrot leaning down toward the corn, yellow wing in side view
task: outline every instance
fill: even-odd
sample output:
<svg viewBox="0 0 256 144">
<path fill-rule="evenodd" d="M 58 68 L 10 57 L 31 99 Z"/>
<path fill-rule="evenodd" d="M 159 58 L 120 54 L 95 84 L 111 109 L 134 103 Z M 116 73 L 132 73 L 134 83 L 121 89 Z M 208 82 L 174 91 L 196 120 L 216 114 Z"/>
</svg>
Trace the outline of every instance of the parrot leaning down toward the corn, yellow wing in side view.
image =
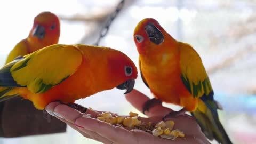
<svg viewBox="0 0 256 144">
<path fill-rule="evenodd" d="M 20 96 L 44 109 L 113 89 L 132 91 L 137 68 L 124 53 L 107 47 L 55 44 L 17 57 L 0 69 L 0 101 Z"/>
</svg>

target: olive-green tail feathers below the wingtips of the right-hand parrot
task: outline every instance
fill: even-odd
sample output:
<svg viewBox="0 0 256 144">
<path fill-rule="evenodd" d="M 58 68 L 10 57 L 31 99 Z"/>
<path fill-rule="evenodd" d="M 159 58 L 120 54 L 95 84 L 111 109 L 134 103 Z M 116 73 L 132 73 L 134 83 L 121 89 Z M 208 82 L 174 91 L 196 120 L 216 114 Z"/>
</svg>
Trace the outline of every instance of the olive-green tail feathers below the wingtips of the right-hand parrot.
<svg viewBox="0 0 256 144">
<path fill-rule="evenodd" d="M 215 116 L 209 108 L 206 110 L 206 113 L 202 113 L 197 109 L 191 112 L 191 114 L 196 118 L 202 132 L 209 140 L 215 139 L 221 144 L 232 144 L 218 116 Z"/>
</svg>

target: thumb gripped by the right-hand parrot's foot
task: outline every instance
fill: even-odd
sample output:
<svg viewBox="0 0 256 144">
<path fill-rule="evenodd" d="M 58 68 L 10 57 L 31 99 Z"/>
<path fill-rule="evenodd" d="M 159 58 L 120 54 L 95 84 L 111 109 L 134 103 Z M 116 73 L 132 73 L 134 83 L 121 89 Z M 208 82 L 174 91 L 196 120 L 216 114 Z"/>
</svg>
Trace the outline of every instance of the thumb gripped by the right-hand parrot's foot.
<svg viewBox="0 0 256 144">
<path fill-rule="evenodd" d="M 141 113 L 143 112 L 142 109 L 144 104 L 149 100 L 149 98 L 145 94 L 135 89 L 133 89 L 130 93 L 125 94 L 125 98 L 131 103 L 133 107 L 141 111 Z M 173 110 L 170 108 L 155 105 L 151 107 L 149 111 L 146 111 L 146 115 L 149 117 L 158 115 L 164 116 L 169 114 L 171 111 Z"/>
</svg>

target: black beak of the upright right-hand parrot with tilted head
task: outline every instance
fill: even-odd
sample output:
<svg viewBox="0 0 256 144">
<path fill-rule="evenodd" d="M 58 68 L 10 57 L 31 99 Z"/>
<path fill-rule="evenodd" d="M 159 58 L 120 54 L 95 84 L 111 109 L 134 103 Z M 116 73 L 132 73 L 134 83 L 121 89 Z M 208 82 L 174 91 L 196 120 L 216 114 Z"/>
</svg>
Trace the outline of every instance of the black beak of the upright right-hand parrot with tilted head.
<svg viewBox="0 0 256 144">
<path fill-rule="evenodd" d="M 145 30 L 151 42 L 158 45 L 164 41 L 164 35 L 153 23 L 148 23 Z"/>
</svg>

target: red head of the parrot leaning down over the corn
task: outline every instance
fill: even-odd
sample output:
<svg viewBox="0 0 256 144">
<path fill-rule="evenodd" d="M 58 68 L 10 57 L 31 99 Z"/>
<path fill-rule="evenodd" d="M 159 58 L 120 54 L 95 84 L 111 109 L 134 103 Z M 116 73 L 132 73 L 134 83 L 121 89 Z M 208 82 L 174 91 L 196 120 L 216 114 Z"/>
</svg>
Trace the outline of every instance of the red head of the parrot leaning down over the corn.
<svg viewBox="0 0 256 144">
<path fill-rule="evenodd" d="M 117 89 L 126 89 L 124 93 L 126 94 L 133 90 L 138 71 L 133 61 L 127 55 L 119 51 L 117 52 L 116 54 L 112 53 L 109 58 L 109 71 L 114 76 L 113 79 L 110 79 L 110 83 L 117 84 Z"/>
</svg>

